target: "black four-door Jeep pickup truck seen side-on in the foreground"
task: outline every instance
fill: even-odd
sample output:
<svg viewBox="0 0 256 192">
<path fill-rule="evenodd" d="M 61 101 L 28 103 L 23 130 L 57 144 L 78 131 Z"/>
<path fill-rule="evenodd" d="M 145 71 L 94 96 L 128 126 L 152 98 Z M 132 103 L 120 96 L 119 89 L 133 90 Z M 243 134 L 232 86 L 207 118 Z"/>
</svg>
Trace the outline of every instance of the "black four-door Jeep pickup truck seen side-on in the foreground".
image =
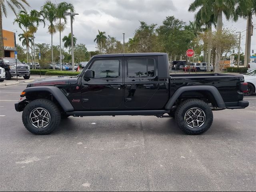
<svg viewBox="0 0 256 192">
<path fill-rule="evenodd" d="M 246 90 L 242 75 L 170 76 L 166 53 L 106 54 L 92 57 L 76 77 L 28 84 L 15 109 L 34 134 L 49 134 L 68 116 L 116 115 L 173 117 L 186 134 L 202 134 L 212 110 L 246 108 Z"/>
</svg>

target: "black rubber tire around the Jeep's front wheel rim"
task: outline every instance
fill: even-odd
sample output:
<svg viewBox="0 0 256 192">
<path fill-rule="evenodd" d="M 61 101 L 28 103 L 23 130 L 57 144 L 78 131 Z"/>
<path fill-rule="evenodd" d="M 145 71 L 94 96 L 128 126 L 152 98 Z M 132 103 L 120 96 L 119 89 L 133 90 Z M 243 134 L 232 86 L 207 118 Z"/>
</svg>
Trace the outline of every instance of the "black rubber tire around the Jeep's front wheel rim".
<svg viewBox="0 0 256 192">
<path fill-rule="evenodd" d="M 50 114 L 50 121 L 48 122 L 48 125 L 45 126 L 44 128 L 38 128 L 34 126 L 30 121 L 30 114 L 36 108 L 43 108 L 47 110 Z M 47 99 L 33 100 L 28 105 L 26 105 L 26 107 L 22 112 L 22 122 L 24 126 L 29 132 L 36 135 L 50 134 L 60 124 L 60 118 L 61 118 L 61 115 L 60 115 L 59 108 L 56 106 L 56 104 L 54 104 L 54 102 Z"/>
</svg>

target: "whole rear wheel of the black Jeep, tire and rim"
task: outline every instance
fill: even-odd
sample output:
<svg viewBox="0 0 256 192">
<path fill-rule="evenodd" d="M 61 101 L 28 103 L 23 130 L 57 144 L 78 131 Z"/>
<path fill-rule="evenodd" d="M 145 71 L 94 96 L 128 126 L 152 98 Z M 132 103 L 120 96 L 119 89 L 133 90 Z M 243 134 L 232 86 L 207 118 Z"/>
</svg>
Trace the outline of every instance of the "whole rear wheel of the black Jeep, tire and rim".
<svg viewBox="0 0 256 192">
<path fill-rule="evenodd" d="M 179 128 L 189 135 L 206 132 L 213 121 L 211 108 L 199 99 L 188 99 L 182 102 L 175 113 Z"/>
</svg>

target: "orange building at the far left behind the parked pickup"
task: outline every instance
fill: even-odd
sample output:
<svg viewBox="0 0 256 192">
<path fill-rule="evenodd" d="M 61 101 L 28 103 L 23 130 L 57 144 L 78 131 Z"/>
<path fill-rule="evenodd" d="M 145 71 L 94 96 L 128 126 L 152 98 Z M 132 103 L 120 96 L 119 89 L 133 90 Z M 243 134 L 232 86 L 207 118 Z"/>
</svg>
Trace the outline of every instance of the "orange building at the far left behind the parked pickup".
<svg viewBox="0 0 256 192">
<path fill-rule="evenodd" d="M 12 31 L 3 30 L 4 37 L 4 56 L 14 57 L 16 51 L 16 35 Z"/>
</svg>

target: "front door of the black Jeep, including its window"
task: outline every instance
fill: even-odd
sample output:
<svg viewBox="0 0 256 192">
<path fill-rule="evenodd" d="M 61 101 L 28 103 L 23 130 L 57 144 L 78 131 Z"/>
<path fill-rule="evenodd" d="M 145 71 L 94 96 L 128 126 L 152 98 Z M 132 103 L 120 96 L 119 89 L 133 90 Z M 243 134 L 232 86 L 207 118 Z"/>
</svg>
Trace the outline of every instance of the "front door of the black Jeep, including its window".
<svg viewBox="0 0 256 192">
<path fill-rule="evenodd" d="M 89 66 L 94 77 L 83 77 L 82 105 L 88 110 L 116 110 L 123 102 L 123 57 L 95 58 Z"/>
</svg>

